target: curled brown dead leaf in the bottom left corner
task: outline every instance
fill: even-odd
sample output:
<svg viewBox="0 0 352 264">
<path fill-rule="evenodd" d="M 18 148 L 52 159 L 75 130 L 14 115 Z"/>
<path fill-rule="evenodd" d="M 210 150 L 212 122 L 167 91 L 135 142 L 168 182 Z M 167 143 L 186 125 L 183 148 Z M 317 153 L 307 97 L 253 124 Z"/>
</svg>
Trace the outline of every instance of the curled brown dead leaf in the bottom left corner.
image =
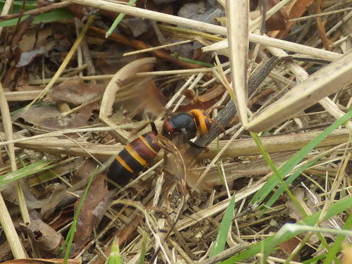
<svg viewBox="0 0 352 264">
<path fill-rule="evenodd" d="M 43 256 L 56 256 L 63 244 L 63 236 L 42 220 L 33 220 L 30 225 L 21 225 L 24 232 L 37 245 Z"/>
</svg>

